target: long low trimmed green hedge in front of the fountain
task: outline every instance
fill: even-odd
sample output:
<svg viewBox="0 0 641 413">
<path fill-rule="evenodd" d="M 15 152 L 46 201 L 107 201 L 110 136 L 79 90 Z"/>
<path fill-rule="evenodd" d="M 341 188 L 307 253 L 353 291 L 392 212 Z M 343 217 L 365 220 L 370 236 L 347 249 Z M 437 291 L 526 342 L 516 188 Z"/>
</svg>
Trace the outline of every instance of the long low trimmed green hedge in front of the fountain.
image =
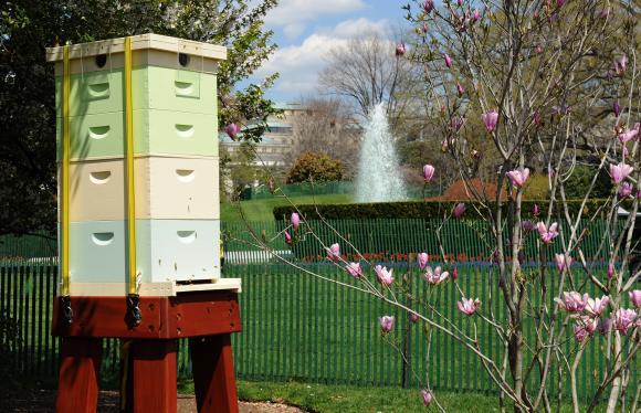
<svg viewBox="0 0 641 413">
<path fill-rule="evenodd" d="M 584 216 L 591 216 L 591 214 L 599 208 L 605 208 L 609 211 L 609 206 L 606 205 L 608 200 L 606 199 L 593 199 L 588 200 L 586 208 L 582 211 Z M 444 201 L 444 202 L 378 202 L 378 203 L 354 203 L 354 204 L 322 204 L 322 205 L 297 205 L 298 210 L 307 220 L 318 219 L 318 213 L 328 220 L 353 220 L 353 219 L 440 219 L 445 214 L 449 214 L 458 201 Z M 472 208 L 473 202 L 465 202 L 466 211 L 463 218 L 466 219 L 477 219 L 480 218 L 476 210 Z M 544 208 L 547 205 L 547 201 L 523 201 L 522 203 L 522 215 L 525 219 L 533 219 L 532 211 L 534 204 L 538 204 Z M 628 202 L 624 202 L 627 204 Z M 558 203 L 556 204 L 558 208 Z M 568 201 L 568 208 L 570 214 L 576 216 L 578 209 L 581 205 L 581 200 Z M 507 205 L 505 206 L 507 208 Z M 626 205 L 623 206 L 626 208 Z M 483 213 L 484 211 L 479 208 Z M 288 216 L 294 211 L 292 205 L 276 206 L 274 208 L 274 218 L 276 220 L 288 219 Z M 561 210 L 555 211 L 563 212 Z M 542 211 L 545 214 L 545 211 Z"/>
</svg>

